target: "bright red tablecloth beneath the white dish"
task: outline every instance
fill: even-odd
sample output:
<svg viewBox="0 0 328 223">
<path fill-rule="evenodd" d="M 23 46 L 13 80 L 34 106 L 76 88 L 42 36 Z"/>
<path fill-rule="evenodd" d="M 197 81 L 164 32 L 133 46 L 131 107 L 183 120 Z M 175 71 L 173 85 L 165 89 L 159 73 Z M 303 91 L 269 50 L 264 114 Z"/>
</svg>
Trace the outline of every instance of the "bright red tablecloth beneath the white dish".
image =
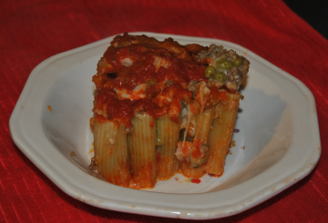
<svg viewBox="0 0 328 223">
<path fill-rule="evenodd" d="M 308 86 L 316 100 L 322 138 L 317 167 L 274 198 L 221 221 L 328 219 L 328 41 L 282 1 L 14 0 L 0 5 L 0 222 L 183 221 L 94 208 L 71 198 L 26 158 L 10 136 L 9 117 L 37 64 L 110 35 L 134 31 L 228 40 Z"/>
</svg>

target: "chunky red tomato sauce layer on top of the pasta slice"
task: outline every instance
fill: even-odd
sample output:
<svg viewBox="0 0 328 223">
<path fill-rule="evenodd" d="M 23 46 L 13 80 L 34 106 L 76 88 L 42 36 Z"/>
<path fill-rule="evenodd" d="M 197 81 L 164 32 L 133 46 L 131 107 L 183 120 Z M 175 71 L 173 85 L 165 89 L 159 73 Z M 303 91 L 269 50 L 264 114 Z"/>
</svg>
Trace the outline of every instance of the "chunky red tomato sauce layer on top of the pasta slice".
<svg viewBox="0 0 328 223">
<path fill-rule="evenodd" d="M 137 112 L 152 117 L 169 114 L 179 122 L 180 102 L 190 101 L 190 80 L 207 81 L 205 66 L 192 55 L 203 46 L 181 46 L 169 38 L 159 42 L 146 35 L 118 35 L 97 65 L 95 113 L 127 127 Z"/>
</svg>

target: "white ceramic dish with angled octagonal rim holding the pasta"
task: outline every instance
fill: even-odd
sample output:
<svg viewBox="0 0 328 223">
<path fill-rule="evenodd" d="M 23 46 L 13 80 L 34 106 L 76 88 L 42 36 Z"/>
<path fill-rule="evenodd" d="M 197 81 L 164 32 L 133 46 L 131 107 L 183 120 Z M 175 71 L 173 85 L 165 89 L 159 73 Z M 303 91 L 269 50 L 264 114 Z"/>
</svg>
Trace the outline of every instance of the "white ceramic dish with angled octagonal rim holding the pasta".
<svg viewBox="0 0 328 223">
<path fill-rule="evenodd" d="M 134 33 L 140 35 L 141 33 Z M 232 48 L 251 61 L 222 177 L 199 184 L 177 174 L 153 189 L 111 185 L 87 166 L 97 60 L 112 37 L 52 56 L 36 66 L 19 97 L 10 131 L 17 147 L 69 196 L 98 208 L 168 218 L 231 216 L 278 194 L 316 165 L 321 145 L 312 93 L 251 51 L 217 39 L 142 33 L 180 44 Z M 51 111 L 50 111 L 51 110 Z M 71 152 L 76 156 L 71 157 Z"/>
</svg>

